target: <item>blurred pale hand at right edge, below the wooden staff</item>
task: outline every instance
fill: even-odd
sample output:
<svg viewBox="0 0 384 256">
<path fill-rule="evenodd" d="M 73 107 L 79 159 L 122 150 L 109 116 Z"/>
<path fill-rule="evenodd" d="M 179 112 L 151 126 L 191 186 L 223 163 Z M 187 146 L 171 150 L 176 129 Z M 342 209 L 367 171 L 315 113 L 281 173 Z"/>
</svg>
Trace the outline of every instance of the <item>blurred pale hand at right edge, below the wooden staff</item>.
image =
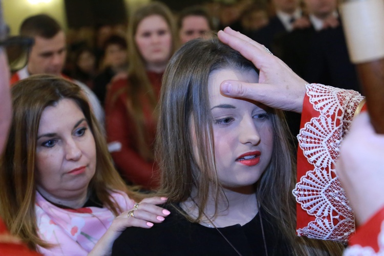
<svg viewBox="0 0 384 256">
<path fill-rule="evenodd" d="M 367 113 L 357 116 L 343 139 L 336 172 L 358 225 L 384 207 L 384 135 L 373 130 Z"/>
</svg>

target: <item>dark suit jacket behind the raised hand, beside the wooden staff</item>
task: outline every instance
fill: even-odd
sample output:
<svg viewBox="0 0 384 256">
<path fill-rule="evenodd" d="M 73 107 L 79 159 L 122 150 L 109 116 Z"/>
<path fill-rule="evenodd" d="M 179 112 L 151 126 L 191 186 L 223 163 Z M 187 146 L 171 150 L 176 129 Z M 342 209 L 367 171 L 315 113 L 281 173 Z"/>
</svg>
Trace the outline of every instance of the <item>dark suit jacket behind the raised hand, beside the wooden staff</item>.
<svg viewBox="0 0 384 256">
<path fill-rule="evenodd" d="M 281 59 L 307 82 L 360 91 L 342 25 L 321 31 L 313 27 L 294 30 L 275 44 L 281 49 Z"/>
</svg>

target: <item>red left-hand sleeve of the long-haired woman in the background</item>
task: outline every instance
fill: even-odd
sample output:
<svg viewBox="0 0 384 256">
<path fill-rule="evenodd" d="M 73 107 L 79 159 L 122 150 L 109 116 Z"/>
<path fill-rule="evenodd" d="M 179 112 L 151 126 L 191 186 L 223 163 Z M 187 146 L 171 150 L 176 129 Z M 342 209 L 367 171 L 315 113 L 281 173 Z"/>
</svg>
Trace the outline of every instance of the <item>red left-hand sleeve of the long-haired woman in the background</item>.
<svg viewBox="0 0 384 256">
<path fill-rule="evenodd" d="M 126 94 L 121 93 L 116 99 L 115 94 L 126 86 L 126 79 L 113 82 L 105 98 L 106 135 L 108 142 L 118 141 L 121 150 L 113 152 L 112 157 L 121 176 L 134 184 L 150 189 L 157 186 L 154 180 L 154 162 L 145 161 L 136 151 L 135 127 L 131 116 L 126 110 Z"/>
</svg>

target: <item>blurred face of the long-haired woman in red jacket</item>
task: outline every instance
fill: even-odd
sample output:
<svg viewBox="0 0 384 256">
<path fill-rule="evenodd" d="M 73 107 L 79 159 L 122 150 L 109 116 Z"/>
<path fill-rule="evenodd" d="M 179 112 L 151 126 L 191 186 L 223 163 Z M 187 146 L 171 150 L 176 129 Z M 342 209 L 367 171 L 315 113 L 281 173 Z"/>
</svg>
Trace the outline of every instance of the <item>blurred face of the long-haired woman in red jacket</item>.
<svg viewBox="0 0 384 256">
<path fill-rule="evenodd" d="M 172 48 L 172 35 L 165 19 L 151 15 L 141 20 L 135 34 L 137 48 L 147 64 L 168 61 Z"/>
</svg>

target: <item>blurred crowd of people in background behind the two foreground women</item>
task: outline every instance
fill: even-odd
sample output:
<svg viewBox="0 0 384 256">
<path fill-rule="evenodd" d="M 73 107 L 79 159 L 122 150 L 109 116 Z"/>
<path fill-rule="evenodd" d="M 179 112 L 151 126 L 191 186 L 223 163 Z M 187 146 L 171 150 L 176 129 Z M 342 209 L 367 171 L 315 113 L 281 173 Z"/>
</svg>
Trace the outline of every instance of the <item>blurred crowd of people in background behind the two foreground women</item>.
<svg viewBox="0 0 384 256">
<path fill-rule="evenodd" d="M 9 34 L 34 40 L 30 52 L 11 66 L 11 83 L 54 74 L 81 84 L 105 124 L 122 177 L 146 189 L 158 184 L 153 144 L 162 74 L 188 40 L 229 26 L 269 48 L 308 82 L 360 91 L 337 0 L 161 1 L 147 10 L 150 1 L 3 3 Z M 300 114 L 286 114 L 296 135 Z"/>
</svg>

